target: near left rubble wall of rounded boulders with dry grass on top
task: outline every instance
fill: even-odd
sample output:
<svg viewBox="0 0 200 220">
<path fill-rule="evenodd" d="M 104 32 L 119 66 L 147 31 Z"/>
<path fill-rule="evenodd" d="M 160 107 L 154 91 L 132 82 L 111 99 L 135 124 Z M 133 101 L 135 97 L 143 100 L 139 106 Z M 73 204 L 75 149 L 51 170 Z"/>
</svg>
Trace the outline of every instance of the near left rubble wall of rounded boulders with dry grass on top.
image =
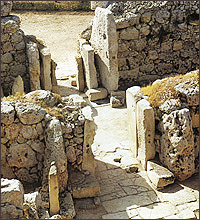
<svg viewBox="0 0 200 220">
<path fill-rule="evenodd" d="M 13 100 L 4 97 L 1 102 L 1 177 L 46 185 L 51 162 L 55 161 L 60 191 L 63 191 L 68 171 L 82 171 L 83 161 L 87 163 L 88 150 L 84 150 L 84 146 L 90 148 L 91 143 L 88 144 L 84 136 L 87 129 L 92 131 L 85 129 L 85 106 L 86 101 L 78 95 L 61 98 L 44 90 L 21 98 L 16 96 Z"/>
</svg>

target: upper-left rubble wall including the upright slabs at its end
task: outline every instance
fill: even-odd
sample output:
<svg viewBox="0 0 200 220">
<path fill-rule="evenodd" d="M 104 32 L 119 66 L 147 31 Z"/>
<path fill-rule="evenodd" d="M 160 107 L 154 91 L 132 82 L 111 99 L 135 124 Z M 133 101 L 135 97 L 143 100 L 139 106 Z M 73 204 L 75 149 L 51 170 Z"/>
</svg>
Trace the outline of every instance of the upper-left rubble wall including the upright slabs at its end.
<svg viewBox="0 0 200 220">
<path fill-rule="evenodd" d="M 56 64 L 51 60 L 44 42 L 34 36 L 25 36 L 20 29 L 20 18 L 10 15 L 12 2 L 1 2 L 1 86 L 5 96 L 17 92 L 12 90 L 18 76 L 23 83 L 19 91 L 36 89 L 52 90 L 56 85 Z M 46 48 L 46 51 L 44 51 Z M 48 57 L 48 59 L 46 58 Z M 48 82 L 46 82 L 46 78 Z M 40 85 L 41 81 L 41 85 Z M 16 87 L 15 87 L 16 88 Z"/>
</svg>

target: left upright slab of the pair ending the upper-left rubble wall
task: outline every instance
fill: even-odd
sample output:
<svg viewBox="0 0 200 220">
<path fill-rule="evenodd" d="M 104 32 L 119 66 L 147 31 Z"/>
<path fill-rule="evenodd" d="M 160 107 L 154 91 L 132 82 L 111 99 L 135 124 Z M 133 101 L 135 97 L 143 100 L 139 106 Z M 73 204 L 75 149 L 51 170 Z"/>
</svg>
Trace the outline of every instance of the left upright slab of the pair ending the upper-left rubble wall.
<svg viewBox="0 0 200 220">
<path fill-rule="evenodd" d="M 34 91 L 40 89 L 40 62 L 37 44 L 33 42 L 27 43 L 26 54 L 29 62 L 31 91 Z"/>
</svg>

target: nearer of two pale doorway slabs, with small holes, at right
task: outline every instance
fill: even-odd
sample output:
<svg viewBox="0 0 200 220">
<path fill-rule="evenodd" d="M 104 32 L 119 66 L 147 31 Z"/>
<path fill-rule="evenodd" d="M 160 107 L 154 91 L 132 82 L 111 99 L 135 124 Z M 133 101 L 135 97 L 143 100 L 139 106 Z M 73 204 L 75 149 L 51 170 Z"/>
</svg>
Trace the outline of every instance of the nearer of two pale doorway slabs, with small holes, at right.
<svg viewBox="0 0 200 220">
<path fill-rule="evenodd" d="M 142 99 L 137 103 L 137 133 L 138 133 L 138 158 L 145 170 L 147 160 L 155 157 L 155 119 L 154 111 L 150 103 Z"/>
</svg>

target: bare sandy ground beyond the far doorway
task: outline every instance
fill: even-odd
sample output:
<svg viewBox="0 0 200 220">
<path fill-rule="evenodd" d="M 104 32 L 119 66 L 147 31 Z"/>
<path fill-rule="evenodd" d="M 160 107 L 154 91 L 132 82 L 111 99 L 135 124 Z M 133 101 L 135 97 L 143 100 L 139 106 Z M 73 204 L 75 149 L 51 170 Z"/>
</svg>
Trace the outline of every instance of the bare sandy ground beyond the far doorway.
<svg viewBox="0 0 200 220">
<path fill-rule="evenodd" d="M 52 59 L 58 64 L 57 79 L 73 75 L 78 34 L 87 27 L 94 12 L 37 12 L 15 11 L 21 18 L 21 29 L 35 35 L 50 48 Z"/>
</svg>

